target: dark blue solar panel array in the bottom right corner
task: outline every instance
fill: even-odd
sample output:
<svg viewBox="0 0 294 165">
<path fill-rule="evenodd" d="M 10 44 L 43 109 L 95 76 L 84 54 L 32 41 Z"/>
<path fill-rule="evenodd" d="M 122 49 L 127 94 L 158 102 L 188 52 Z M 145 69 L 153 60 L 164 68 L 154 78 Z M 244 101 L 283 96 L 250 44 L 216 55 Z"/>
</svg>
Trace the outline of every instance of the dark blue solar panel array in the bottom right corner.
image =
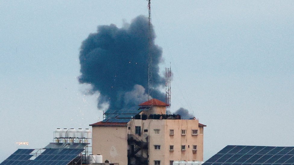
<svg viewBox="0 0 294 165">
<path fill-rule="evenodd" d="M 294 147 L 228 145 L 202 165 L 281 164 L 294 164 Z"/>
</svg>

